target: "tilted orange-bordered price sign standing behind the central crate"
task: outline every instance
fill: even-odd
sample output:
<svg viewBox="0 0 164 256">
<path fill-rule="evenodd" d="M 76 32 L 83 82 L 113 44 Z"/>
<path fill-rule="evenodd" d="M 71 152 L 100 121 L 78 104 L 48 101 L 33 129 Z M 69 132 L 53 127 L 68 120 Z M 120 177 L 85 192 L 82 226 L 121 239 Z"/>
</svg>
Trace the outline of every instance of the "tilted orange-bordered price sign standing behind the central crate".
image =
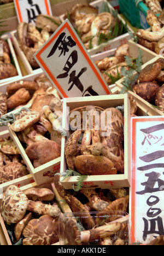
<svg viewBox="0 0 164 256">
<path fill-rule="evenodd" d="M 34 58 L 62 97 L 110 94 L 109 86 L 67 19 Z"/>
</svg>

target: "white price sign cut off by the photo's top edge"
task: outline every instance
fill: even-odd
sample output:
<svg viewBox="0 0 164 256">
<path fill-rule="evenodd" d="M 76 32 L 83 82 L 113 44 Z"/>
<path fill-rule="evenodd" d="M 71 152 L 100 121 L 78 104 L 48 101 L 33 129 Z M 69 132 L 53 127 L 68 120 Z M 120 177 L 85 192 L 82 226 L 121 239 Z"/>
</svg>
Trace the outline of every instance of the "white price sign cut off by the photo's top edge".
<svg viewBox="0 0 164 256">
<path fill-rule="evenodd" d="M 52 15 L 49 0 L 14 0 L 19 23 L 35 21 L 39 14 Z"/>
</svg>

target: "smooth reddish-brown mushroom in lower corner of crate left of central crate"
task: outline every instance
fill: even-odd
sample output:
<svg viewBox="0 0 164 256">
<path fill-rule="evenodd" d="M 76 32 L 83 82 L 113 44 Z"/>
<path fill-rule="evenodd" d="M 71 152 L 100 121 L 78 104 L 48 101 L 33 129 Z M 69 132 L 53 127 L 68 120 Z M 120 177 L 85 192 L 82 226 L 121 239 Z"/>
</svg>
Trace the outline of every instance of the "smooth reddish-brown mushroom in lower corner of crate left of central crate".
<svg viewBox="0 0 164 256">
<path fill-rule="evenodd" d="M 38 141 L 25 150 L 27 156 L 34 160 L 34 168 L 46 164 L 46 162 L 52 161 L 61 156 L 61 145 L 55 141 Z"/>
</svg>

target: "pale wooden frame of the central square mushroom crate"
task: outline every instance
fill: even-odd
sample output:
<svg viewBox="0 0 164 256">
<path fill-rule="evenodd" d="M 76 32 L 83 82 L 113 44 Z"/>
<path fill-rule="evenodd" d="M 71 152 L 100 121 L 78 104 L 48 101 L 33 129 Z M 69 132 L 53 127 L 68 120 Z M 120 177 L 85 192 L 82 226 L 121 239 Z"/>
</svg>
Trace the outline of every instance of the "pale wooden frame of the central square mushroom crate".
<svg viewBox="0 0 164 256">
<path fill-rule="evenodd" d="M 94 96 L 94 97 L 78 97 L 78 98 L 64 98 L 63 99 L 63 128 L 68 131 L 68 115 L 69 110 L 73 110 L 78 107 L 87 105 L 94 105 L 102 108 L 117 107 L 124 104 L 124 115 L 125 115 L 125 135 L 124 135 L 124 149 L 125 149 L 125 172 L 124 174 L 116 175 L 100 175 L 100 176 L 89 176 L 83 183 L 83 188 L 122 188 L 130 187 L 130 101 L 127 95 L 105 95 L 105 96 Z M 68 110 L 69 108 L 69 110 Z M 67 135 L 69 136 L 69 134 Z M 61 169 L 63 173 L 67 170 L 66 158 L 65 158 L 65 143 L 66 138 L 62 138 L 62 150 L 61 150 Z M 72 189 L 73 185 L 77 184 L 77 177 L 70 177 L 68 180 L 63 181 L 61 176 L 60 182 L 65 189 Z"/>
</svg>

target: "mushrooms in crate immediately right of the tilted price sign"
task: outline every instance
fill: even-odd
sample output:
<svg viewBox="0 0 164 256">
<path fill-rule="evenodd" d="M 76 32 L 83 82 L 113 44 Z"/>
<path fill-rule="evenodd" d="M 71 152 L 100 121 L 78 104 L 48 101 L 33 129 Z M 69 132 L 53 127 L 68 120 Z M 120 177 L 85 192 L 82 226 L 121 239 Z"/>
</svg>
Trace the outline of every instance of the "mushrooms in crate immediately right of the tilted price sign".
<svg viewBox="0 0 164 256">
<path fill-rule="evenodd" d="M 116 49 L 114 56 L 104 57 L 102 60 L 95 61 L 96 66 L 108 85 L 112 84 L 110 75 L 115 79 L 118 78 L 118 75 L 119 79 L 122 77 L 121 68 L 127 66 L 125 56 L 130 56 L 128 44 L 120 45 L 118 49 Z"/>
</svg>

